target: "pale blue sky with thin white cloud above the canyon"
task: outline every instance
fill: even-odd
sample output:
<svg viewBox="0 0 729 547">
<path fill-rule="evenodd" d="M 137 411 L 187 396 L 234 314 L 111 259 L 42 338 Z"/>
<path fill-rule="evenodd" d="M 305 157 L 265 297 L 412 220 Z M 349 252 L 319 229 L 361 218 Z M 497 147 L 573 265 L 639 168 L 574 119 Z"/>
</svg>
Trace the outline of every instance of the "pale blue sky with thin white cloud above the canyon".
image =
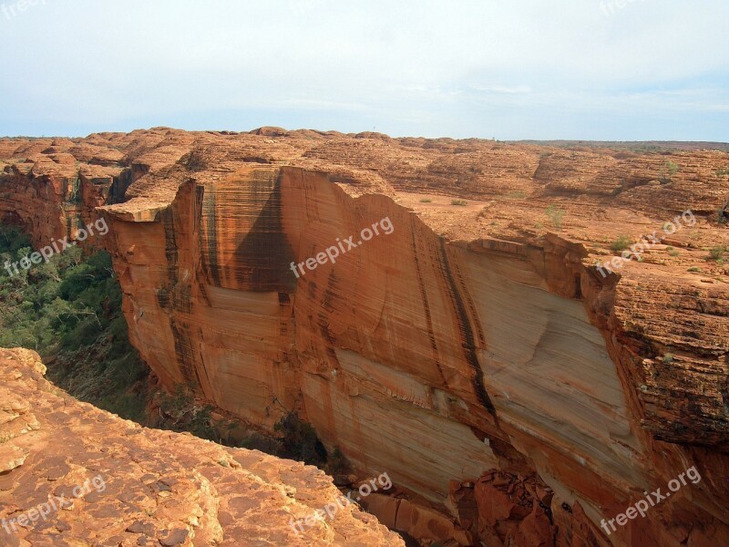
<svg viewBox="0 0 729 547">
<path fill-rule="evenodd" d="M 727 21 L 726 0 L 0 0 L 0 135 L 726 142 Z"/>
</svg>

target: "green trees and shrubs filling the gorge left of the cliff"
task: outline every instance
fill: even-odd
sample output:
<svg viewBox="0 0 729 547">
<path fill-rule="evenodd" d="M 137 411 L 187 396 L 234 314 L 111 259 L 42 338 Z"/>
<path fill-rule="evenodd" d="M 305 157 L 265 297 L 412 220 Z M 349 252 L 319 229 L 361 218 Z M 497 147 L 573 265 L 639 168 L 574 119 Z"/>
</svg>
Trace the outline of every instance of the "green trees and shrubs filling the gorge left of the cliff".
<svg viewBox="0 0 729 547">
<path fill-rule="evenodd" d="M 2 263 L 31 252 L 23 232 L 0 226 Z M 144 422 L 148 369 L 129 345 L 108 253 L 84 258 L 71 247 L 13 276 L 0 270 L 0 347 L 35 350 L 56 386 Z"/>
</svg>

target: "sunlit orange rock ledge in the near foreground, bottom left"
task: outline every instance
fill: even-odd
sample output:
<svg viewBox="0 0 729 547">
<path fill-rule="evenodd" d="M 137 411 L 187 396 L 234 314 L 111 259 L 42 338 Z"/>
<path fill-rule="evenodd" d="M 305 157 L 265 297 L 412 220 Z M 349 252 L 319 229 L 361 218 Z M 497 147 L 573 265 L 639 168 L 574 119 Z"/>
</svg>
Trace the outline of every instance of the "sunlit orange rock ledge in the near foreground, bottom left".
<svg viewBox="0 0 729 547">
<path fill-rule="evenodd" d="M 404 545 L 354 504 L 313 520 L 341 497 L 316 468 L 141 428 L 44 373 L 0 350 L 2 545 Z"/>
</svg>

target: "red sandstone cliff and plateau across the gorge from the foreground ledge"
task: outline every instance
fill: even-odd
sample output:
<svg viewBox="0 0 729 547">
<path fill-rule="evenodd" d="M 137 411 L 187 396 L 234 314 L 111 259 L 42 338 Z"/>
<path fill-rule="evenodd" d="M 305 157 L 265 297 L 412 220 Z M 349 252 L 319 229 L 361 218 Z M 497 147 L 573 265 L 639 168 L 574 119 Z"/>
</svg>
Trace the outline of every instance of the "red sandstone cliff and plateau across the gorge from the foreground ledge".
<svg viewBox="0 0 729 547">
<path fill-rule="evenodd" d="M 0 143 L 0 211 L 34 230 L 41 190 L 73 173 L 21 156 L 118 169 L 44 230 L 103 215 L 162 382 L 263 428 L 298 410 L 409 492 L 370 503 L 384 521 L 464 545 L 729 541 L 729 272 L 704 250 L 729 241 L 729 154 L 676 151 L 669 174 L 658 154 L 278 129 Z M 599 274 L 619 235 L 689 209 L 693 225 Z M 702 479 L 645 518 L 601 527 L 691 467 Z"/>
</svg>

